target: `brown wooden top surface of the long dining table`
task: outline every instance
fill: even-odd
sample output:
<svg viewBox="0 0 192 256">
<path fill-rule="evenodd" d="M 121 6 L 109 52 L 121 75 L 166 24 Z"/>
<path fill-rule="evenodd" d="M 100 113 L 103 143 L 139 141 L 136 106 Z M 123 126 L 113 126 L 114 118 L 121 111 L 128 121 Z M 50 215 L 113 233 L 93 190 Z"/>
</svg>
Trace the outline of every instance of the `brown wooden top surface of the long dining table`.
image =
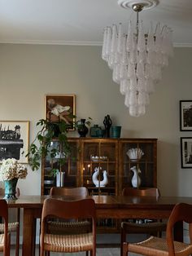
<svg viewBox="0 0 192 256">
<path fill-rule="evenodd" d="M 96 208 L 168 208 L 177 203 L 192 204 L 191 197 L 179 196 L 88 196 L 93 198 Z M 3 196 L 0 196 L 3 198 Z M 41 208 L 46 198 L 56 198 L 65 201 L 81 200 L 80 196 L 20 196 L 16 200 L 7 201 L 10 208 Z"/>
</svg>

